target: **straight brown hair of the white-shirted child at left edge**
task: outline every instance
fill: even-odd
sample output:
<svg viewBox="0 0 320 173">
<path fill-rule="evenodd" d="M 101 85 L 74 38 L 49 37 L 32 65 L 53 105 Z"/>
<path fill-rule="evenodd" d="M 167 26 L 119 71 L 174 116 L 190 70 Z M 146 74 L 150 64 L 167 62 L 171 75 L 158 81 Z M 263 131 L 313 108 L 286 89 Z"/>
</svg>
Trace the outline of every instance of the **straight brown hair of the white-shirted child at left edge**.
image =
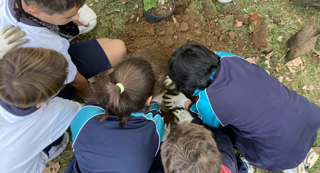
<svg viewBox="0 0 320 173">
<path fill-rule="evenodd" d="M 51 49 L 10 51 L 0 59 L 0 98 L 19 108 L 47 101 L 64 87 L 67 68 L 67 59 Z"/>
</svg>

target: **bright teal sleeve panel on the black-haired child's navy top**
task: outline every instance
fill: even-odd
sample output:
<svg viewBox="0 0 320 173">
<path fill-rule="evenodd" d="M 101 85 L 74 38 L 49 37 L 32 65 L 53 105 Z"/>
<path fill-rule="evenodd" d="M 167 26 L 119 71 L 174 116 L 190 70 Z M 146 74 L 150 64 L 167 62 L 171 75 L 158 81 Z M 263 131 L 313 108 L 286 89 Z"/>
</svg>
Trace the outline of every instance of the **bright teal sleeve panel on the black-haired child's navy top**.
<svg viewBox="0 0 320 173">
<path fill-rule="evenodd" d="M 194 104 L 196 106 L 192 105 L 190 106 L 190 109 L 193 112 L 197 112 L 197 114 L 200 115 L 200 119 L 204 122 L 205 125 L 214 128 L 219 128 L 219 126 L 222 124 L 216 116 L 216 114 L 214 114 L 214 111 L 212 110 L 209 98 L 206 93 L 206 89 L 201 91 L 198 97 L 198 101 L 196 102 L 196 104 Z"/>
</svg>

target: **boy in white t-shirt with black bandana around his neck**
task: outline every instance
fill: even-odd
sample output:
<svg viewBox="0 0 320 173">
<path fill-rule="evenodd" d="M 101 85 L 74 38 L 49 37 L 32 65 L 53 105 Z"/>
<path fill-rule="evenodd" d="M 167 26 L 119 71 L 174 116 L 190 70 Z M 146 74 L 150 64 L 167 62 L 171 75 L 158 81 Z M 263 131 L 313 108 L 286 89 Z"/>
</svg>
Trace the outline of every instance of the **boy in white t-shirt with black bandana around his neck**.
<svg viewBox="0 0 320 173">
<path fill-rule="evenodd" d="M 75 98 L 74 90 L 83 99 L 90 95 L 86 79 L 105 72 L 126 54 L 121 40 L 93 39 L 69 45 L 67 39 L 89 32 L 96 25 L 95 17 L 88 28 L 72 21 L 90 16 L 88 8 L 79 9 L 85 0 L 2 0 L 0 1 L 0 28 L 8 25 L 21 27 L 29 42 L 23 47 L 43 47 L 62 53 L 69 63 L 66 88 L 59 97 Z M 92 10 L 91 10 L 92 11 Z M 89 12 L 90 13 L 90 12 Z M 85 21 L 85 20 L 80 20 Z M 77 22 L 78 25 L 79 21 Z M 88 24 L 84 24 L 88 25 Z M 1 47 L 2 45 L 0 45 Z M 69 47 L 70 46 L 70 47 Z"/>
</svg>

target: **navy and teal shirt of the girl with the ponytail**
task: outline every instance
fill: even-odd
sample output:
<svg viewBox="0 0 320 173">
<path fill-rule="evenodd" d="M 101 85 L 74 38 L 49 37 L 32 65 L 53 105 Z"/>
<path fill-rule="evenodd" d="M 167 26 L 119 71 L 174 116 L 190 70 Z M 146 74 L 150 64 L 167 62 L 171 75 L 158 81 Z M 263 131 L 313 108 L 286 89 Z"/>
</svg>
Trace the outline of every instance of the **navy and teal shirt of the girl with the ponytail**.
<svg viewBox="0 0 320 173">
<path fill-rule="evenodd" d="M 75 156 L 66 173 L 148 173 L 164 131 L 160 106 L 151 102 L 132 113 L 124 129 L 113 114 L 98 122 L 95 116 L 104 113 L 101 107 L 84 106 L 71 122 Z"/>
</svg>

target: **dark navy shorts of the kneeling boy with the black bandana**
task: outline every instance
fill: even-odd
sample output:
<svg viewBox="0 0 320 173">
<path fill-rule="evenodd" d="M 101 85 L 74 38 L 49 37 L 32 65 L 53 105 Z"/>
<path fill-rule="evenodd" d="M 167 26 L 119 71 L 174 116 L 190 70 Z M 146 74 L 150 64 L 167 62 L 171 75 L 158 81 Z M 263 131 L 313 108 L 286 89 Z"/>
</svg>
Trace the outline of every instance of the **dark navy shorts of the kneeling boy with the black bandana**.
<svg viewBox="0 0 320 173">
<path fill-rule="evenodd" d="M 71 44 L 68 53 L 78 72 L 86 79 L 111 69 L 109 59 L 96 39 Z M 75 90 L 67 84 L 56 97 L 74 100 Z"/>
</svg>

